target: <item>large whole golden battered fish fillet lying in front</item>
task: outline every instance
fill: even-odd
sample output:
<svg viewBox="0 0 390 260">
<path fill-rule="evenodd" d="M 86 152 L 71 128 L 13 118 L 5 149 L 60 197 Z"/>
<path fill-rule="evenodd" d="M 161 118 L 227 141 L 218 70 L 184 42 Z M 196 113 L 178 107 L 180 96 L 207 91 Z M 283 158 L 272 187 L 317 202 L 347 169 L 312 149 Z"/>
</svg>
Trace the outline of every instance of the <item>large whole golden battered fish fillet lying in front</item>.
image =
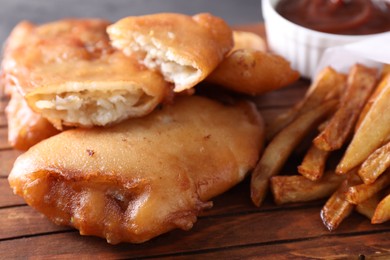
<svg viewBox="0 0 390 260">
<path fill-rule="evenodd" d="M 57 224 L 141 243 L 190 229 L 210 198 L 255 166 L 263 136 L 252 103 L 183 96 L 143 118 L 46 139 L 16 160 L 8 180 Z"/>
</svg>

